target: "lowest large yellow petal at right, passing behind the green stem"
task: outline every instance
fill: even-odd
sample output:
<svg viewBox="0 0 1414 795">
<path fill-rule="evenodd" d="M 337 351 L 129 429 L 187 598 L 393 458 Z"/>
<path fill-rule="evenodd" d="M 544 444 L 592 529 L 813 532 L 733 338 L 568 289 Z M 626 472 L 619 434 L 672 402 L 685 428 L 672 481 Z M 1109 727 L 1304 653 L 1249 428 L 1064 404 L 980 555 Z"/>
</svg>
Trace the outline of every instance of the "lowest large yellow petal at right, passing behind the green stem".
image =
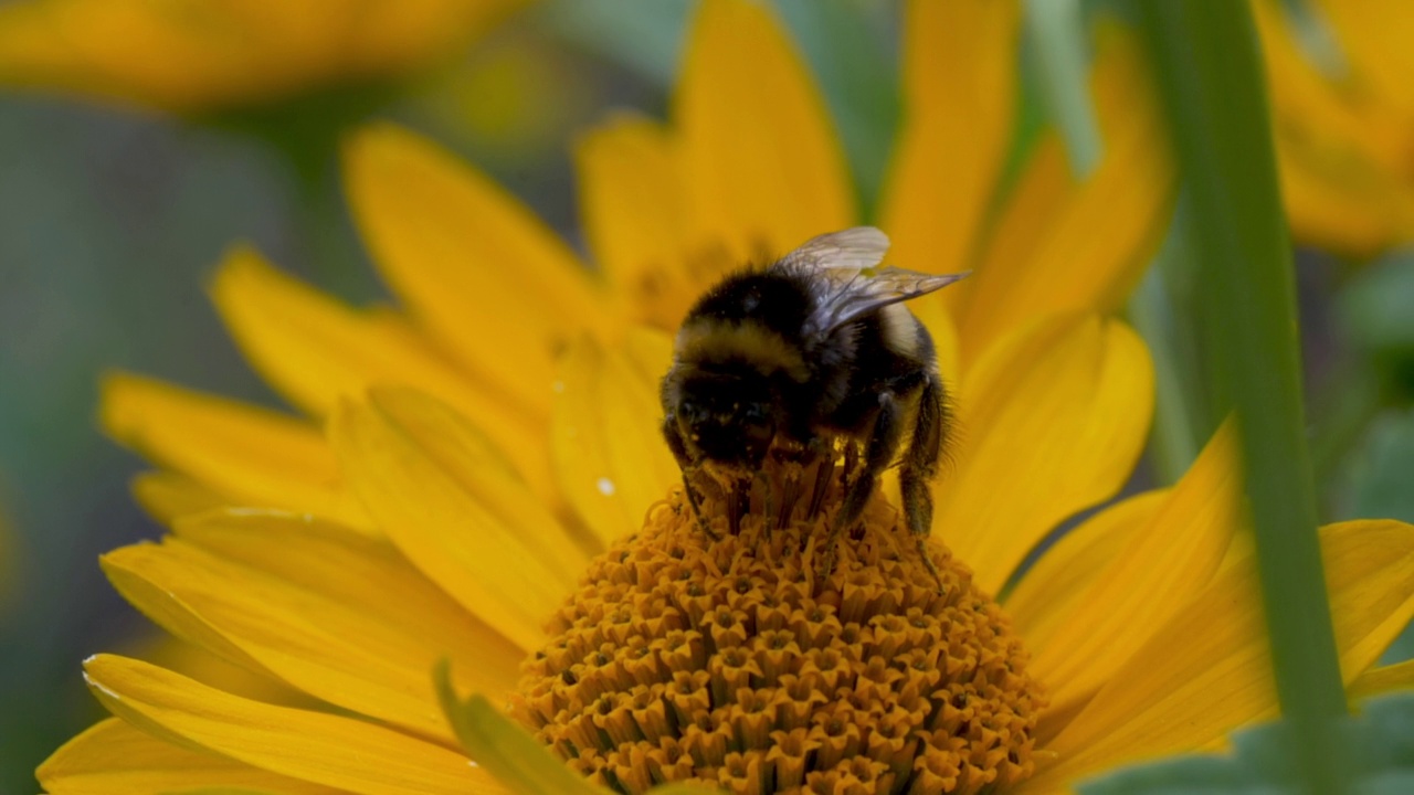
<svg viewBox="0 0 1414 795">
<path fill-rule="evenodd" d="M 1340 671 L 1349 683 L 1414 615 L 1414 526 L 1321 530 Z M 1097 770 L 1206 747 L 1277 712 L 1254 563 L 1225 567 L 1046 743 L 1058 761 L 1022 785 L 1049 791 Z M 1056 637 L 1052 642 L 1069 642 Z"/>
</svg>

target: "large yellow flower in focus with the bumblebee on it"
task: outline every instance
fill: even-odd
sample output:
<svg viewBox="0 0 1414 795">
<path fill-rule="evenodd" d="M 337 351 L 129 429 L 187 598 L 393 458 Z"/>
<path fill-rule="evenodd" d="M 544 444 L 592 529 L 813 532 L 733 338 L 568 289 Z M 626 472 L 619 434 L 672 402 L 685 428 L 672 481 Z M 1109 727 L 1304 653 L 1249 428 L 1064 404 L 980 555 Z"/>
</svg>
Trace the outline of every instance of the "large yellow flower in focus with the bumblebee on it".
<svg viewBox="0 0 1414 795">
<path fill-rule="evenodd" d="M 212 289 L 322 431 L 109 381 L 105 424 L 165 468 L 137 491 L 174 530 L 105 556 L 109 577 L 322 709 L 100 655 L 85 673 L 117 717 L 57 751 L 44 788 L 543 791 L 536 758 L 468 764 L 430 676 L 443 659 L 460 690 L 509 700 L 575 770 L 632 791 L 694 774 L 1044 792 L 1273 716 L 1226 433 L 994 598 L 1143 448 L 1148 355 L 1096 311 L 1121 300 L 1171 190 L 1152 117 L 1130 116 L 1090 181 L 1069 182 L 1048 136 L 995 197 L 1015 38 L 1015 4 L 909 6 L 891 260 L 977 269 L 916 301 L 960 427 L 935 489 L 943 594 L 882 497 L 829 583 L 822 518 L 710 542 L 682 509 L 656 429 L 665 330 L 732 263 L 855 221 L 799 59 L 761 7 L 711 0 L 672 124 L 621 119 L 578 150 L 598 274 L 485 178 L 378 127 L 348 149 L 349 191 L 406 314 L 342 307 L 249 250 Z M 1131 55 L 1102 58 L 1110 106 L 1133 96 Z M 1407 683 L 1370 669 L 1414 614 L 1414 530 L 1355 522 L 1324 542 L 1352 693 Z"/>
</svg>

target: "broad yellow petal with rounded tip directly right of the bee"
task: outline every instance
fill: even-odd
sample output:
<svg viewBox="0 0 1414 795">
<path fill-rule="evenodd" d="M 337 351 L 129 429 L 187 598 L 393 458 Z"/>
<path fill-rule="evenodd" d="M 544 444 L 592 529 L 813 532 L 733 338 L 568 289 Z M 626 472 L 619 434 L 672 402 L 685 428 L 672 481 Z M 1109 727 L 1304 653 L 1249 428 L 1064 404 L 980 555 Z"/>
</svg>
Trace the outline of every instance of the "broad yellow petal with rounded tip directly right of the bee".
<svg viewBox="0 0 1414 795">
<path fill-rule="evenodd" d="M 933 532 L 997 593 L 1052 528 L 1128 478 L 1154 372 L 1124 324 L 1046 318 L 993 347 L 956 396 L 956 463 L 935 489 Z"/>
</svg>

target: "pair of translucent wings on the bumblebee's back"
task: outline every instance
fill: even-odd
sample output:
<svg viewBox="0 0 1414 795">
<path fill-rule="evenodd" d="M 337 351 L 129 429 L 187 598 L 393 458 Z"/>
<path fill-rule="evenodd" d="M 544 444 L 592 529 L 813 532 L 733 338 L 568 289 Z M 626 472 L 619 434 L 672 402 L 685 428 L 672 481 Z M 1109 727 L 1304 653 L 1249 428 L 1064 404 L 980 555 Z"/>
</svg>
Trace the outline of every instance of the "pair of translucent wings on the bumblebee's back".
<svg viewBox="0 0 1414 795">
<path fill-rule="evenodd" d="M 888 235 L 872 226 L 855 226 L 820 235 L 782 257 L 779 267 L 806 270 L 816 294 L 807 334 L 829 337 L 857 318 L 933 290 L 940 290 L 967 273 L 918 273 L 902 267 L 870 270 L 884 259 Z"/>
</svg>

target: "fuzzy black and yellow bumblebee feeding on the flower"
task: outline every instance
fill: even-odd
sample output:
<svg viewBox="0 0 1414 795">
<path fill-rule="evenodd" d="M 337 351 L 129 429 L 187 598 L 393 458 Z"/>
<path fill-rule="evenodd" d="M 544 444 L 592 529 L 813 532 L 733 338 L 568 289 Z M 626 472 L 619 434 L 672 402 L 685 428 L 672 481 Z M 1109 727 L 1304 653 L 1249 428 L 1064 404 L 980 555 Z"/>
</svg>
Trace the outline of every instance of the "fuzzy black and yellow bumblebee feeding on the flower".
<svg viewBox="0 0 1414 795">
<path fill-rule="evenodd" d="M 902 303 L 967 274 L 875 267 L 888 245 L 872 226 L 820 235 L 710 289 L 683 320 L 662 381 L 663 437 L 699 523 L 697 475 L 704 467 L 735 474 L 734 532 L 740 492 L 762 477 L 768 453 L 833 474 L 843 447 L 844 499 L 824 547 L 826 576 L 840 535 L 896 463 L 908 528 L 936 579 L 923 543 L 947 400 L 932 337 Z M 826 480 L 816 480 L 812 513 Z"/>
</svg>

